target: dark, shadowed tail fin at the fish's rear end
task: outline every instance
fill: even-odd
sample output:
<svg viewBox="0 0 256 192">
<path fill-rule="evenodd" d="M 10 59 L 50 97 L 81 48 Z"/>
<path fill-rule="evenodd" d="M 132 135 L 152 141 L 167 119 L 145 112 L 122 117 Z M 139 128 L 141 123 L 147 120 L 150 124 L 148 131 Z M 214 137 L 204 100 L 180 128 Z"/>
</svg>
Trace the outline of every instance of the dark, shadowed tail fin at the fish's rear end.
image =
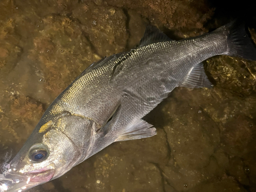
<svg viewBox="0 0 256 192">
<path fill-rule="evenodd" d="M 227 31 L 227 46 L 229 56 L 242 57 L 248 60 L 256 60 L 256 48 L 245 25 L 237 20 L 225 25 Z"/>
</svg>

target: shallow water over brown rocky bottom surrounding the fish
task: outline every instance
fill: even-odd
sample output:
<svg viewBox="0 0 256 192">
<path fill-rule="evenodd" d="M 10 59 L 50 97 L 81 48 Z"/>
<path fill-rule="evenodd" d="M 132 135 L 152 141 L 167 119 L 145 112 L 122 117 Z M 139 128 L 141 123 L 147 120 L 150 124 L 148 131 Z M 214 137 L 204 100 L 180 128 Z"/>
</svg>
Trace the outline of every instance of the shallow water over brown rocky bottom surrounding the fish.
<svg viewBox="0 0 256 192">
<path fill-rule="evenodd" d="M 148 24 L 181 39 L 230 20 L 205 1 L 2 0 L 0 9 L 0 163 L 80 72 L 133 48 Z M 144 118 L 157 136 L 113 143 L 29 191 L 256 191 L 255 66 L 208 59 L 214 89 L 176 88 Z"/>
</svg>

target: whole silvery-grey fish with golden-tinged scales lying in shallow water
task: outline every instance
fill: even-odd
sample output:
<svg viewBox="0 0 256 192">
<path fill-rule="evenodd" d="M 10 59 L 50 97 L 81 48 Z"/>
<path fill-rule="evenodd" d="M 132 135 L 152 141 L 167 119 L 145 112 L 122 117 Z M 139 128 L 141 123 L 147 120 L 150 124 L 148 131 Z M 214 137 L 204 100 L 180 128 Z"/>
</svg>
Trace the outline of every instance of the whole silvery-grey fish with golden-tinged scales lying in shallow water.
<svg viewBox="0 0 256 192">
<path fill-rule="evenodd" d="M 176 87 L 212 88 L 202 61 L 216 55 L 256 60 L 245 25 L 233 21 L 182 40 L 148 26 L 136 48 L 93 62 L 51 103 L 8 163 L 0 190 L 27 190 L 111 143 L 156 135 L 142 118 Z"/>
</svg>

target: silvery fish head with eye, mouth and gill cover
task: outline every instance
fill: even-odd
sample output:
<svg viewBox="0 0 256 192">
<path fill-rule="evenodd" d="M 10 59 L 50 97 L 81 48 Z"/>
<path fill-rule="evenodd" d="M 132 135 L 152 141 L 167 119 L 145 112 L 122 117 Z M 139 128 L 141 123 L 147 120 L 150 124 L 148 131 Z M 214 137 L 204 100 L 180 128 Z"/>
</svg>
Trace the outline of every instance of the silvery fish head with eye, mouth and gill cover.
<svg viewBox="0 0 256 192">
<path fill-rule="evenodd" d="M 94 124 L 91 120 L 67 115 L 48 124 L 44 130 L 40 128 L 44 125 L 36 127 L 3 173 L 13 181 L 7 182 L 8 191 L 20 192 L 58 178 L 88 154 Z"/>
</svg>

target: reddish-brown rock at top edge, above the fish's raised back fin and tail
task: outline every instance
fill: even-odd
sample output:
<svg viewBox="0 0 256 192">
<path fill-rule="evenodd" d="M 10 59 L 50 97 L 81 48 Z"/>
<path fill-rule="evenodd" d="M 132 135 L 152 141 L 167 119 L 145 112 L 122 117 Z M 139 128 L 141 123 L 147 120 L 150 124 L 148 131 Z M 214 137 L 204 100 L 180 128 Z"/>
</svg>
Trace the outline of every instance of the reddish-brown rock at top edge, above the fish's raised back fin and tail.
<svg viewBox="0 0 256 192">
<path fill-rule="evenodd" d="M 214 14 L 214 9 L 202 1 L 110 1 L 106 3 L 111 6 L 133 9 L 139 14 L 147 17 L 153 24 L 165 24 L 170 30 L 180 29 L 184 32 L 176 33 L 179 37 L 205 32 L 204 23 Z M 188 19 L 189 18 L 189 19 Z M 189 32 L 188 32 L 189 31 Z"/>
</svg>

